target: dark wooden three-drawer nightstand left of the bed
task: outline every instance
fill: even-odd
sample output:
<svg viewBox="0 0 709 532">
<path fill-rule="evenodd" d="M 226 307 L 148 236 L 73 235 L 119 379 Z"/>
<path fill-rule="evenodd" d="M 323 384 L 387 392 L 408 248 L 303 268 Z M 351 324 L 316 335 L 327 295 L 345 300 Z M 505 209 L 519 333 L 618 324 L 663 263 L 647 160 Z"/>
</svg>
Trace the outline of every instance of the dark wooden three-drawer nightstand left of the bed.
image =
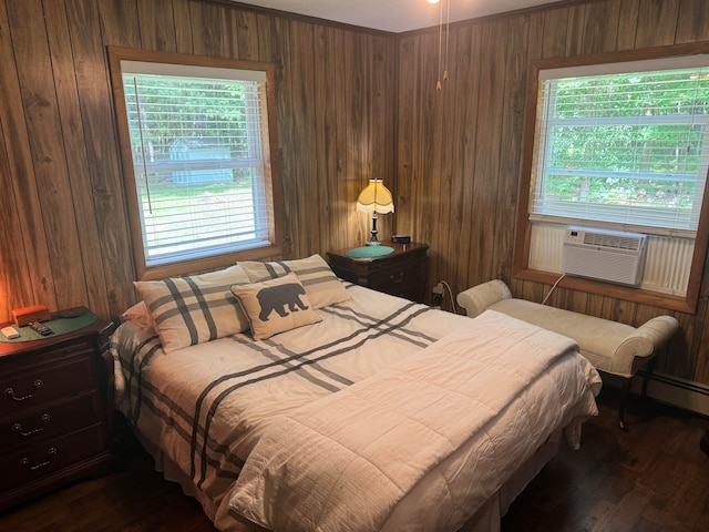
<svg viewBox="0 0 709 532">
<path fill-rule="evenodd" d="M 0 342 L 0 511 L 107 471 L 112 325 Z"/>
</svg>

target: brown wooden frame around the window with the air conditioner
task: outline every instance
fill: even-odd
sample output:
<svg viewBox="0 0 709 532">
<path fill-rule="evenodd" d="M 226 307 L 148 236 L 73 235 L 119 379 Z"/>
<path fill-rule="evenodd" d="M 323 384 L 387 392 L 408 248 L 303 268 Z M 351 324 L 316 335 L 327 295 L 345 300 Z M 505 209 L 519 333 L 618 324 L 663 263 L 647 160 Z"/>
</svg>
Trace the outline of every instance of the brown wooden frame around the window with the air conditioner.
<svg viewBox="0 0 709 532">
<path fill-rule="evenodd" d="M 620 52 L 599 53 L 589 55 L 577 55 L 572 58 L 541 59 L 530 63 L 530 73 L 526 91 L 526 110 L 524 122 L 524 141 L 522 153 L 522 165 L 517 202 L 517 224 L 514 244 L 513 277 L 521 280 L 532 280 L 553 285 L 559 274 L 532 269 L 528 267 L 530 247 L 532 237 L 532 223 L 530 216 L 530 202 L 533 192 L 532 174 L 534 171 L 534 145 L 535 129 L 537 121 L 537 96 L 540 71 L 561 69 L 567 66 L 586 66 L 593 64 L 617 63 L 643 61 L 661 58 L 672 58 L 692 55 L 698 53 L 709 53 L 709 41 L 695 42 L 688 44 L 676 44 L 670 47 L 659 47 L 643 50 L 628 50 Z M 709 178 L 708 178 L 709 183 Z M 705 187 L 699 224 L 697 226 L 695 250 L 691 258 L 691 268 L 685 296 L 672 296 L 651 291 L 643 288 L 633 288 L 600 280 L 584 279 L 579 277 L 564 277 L 558 286 L 574 290 L 586 291 L 608 296 L 617 299 L 635 301 L 644 305 L 651 305 L 672 310 L 680 310 L 693 314 L 699 300 L 699 290 L 703 275 L 703 264 L 707 256 L 709 243 L 709 186 Z"/>
</svg>

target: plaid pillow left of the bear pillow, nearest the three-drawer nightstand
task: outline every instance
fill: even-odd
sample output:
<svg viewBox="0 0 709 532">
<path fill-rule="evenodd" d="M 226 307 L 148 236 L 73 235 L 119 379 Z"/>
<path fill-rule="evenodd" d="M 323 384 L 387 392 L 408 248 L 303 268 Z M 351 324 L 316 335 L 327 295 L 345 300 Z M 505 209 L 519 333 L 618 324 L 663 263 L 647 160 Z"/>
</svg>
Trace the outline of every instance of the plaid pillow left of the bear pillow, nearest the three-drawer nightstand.
<svg viewBox="0 0 709 532">
<path fill-rule="evenodd" d="M 230 290 L 232 285 L 248 282 L 239 266 L 230 266 L 134 285 L 147 306 L 163 349 L 171 352 L 248 329 L 248 319 Z"/>
</svg>

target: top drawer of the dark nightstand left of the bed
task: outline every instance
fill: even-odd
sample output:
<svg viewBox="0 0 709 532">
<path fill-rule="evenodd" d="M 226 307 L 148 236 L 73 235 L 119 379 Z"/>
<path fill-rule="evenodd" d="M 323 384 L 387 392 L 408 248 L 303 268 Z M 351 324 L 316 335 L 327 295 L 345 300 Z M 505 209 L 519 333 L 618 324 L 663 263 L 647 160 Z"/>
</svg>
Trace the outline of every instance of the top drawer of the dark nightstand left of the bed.
<svg viewBox="0 0 709 532">
<path fill-rule="evenodd" d="M 0 375 L 0 417 L 94 388 L 89 356 Z"/>
</svg>

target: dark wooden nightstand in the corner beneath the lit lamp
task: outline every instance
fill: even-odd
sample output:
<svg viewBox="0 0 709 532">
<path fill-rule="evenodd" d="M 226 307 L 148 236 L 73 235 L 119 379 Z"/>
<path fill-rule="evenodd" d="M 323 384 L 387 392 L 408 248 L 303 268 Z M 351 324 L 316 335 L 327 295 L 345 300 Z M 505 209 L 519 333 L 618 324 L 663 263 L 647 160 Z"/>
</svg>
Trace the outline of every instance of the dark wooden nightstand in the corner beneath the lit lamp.
<svg viewBox="0 0 709 532">
<path fill-rule="evenodd" d="M 348 249 L 328 252 L 335 274 L 351 283 L 374 290 L 423 303 L 428 275 L 428 244 L 383 244 L 393 247 L 389 255 L 373 258 L 352 258 Z"/>
</svg>

